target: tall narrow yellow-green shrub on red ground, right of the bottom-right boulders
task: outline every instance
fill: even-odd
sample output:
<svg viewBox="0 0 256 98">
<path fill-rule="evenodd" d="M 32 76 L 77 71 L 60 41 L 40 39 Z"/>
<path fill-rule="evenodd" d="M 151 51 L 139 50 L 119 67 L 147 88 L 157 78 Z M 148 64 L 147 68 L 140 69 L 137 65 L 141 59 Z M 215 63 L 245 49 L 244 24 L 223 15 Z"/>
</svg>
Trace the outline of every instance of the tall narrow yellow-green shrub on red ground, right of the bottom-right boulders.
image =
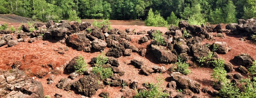
<svg viewBox="0 0 256 98">
<path fill-rule="evenodd" d="M 226 73 L 227 71 L 224 69 L 225 61 L 223 59 L 216 59 L 209 61 L 214 65 L 214 71 L 212 72 L 211 78 L 214 79 L 215 82 L 221 81 L 222 83 L 227 83 Z"/>
</svg>

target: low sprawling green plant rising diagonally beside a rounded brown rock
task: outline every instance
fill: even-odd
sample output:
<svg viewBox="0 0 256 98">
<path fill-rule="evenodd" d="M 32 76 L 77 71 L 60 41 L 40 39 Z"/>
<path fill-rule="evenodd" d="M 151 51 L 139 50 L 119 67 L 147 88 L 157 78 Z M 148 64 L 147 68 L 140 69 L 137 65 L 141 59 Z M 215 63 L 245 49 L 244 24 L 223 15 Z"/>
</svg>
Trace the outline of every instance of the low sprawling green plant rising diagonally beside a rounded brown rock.
<svg viewBox="0 0 256 98">
<path fill-rule="evenodd" d="M 207 57 L 204 57 L 204 56 L 199 57 L 196 61 L 198 61 L 202 66 L 204 64 L 208 64 L 209 61 L 212 60 L 212 57 L 214 57 L 214 53 L 209 51 Z"/>
</svg>

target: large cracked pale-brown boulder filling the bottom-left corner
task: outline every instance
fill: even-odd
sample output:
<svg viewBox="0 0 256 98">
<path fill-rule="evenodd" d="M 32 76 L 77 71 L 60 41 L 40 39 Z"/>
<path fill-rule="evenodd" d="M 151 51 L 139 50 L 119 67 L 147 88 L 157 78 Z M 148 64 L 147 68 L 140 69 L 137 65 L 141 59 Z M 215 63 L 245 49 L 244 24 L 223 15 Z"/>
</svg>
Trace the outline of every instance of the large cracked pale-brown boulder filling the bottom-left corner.
<svg viewBox="0 0 256 98">
<path fill-rule="evenodd" d="M 44 98 L 42 83 L 19 69 L 0 72 L 1 98 Z"/>
</svg>

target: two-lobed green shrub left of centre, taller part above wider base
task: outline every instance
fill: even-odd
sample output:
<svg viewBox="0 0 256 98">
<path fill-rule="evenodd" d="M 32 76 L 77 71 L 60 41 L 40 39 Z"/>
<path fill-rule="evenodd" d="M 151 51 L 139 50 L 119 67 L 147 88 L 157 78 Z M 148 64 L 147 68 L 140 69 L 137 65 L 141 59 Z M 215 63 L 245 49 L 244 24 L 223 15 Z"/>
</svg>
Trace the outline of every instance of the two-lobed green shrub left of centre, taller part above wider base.
<svg viewBox="0 0 256 98">
<path fill-rule="evenodd" d="M 108 57 L 104 56 L 104 53 L 99 54 L 96 57 L 95 67 L 92 69 L 92 73 L 99 75 L 100 79 L 110 78 L 113 75 L 112 68 L 103 67 L 103 65 L 108 61 Z"/>
</svg>

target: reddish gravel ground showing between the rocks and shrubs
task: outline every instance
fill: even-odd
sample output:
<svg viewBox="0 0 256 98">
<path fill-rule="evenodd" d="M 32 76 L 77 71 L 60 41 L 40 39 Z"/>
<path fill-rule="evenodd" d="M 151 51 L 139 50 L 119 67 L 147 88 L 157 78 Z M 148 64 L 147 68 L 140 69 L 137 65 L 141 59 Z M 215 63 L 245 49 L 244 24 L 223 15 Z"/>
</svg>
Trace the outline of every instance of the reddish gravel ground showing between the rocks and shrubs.
<svg viewBox="0 0 256 98">
<path fill-rule="evenodd" d="M 114 20 L 111 20 L 111 22 Z M 4 23 L 5 21 L 2 21 L 0 23 Z M 128 23 L 127 23 L 128 22 Z M 127 25 L 129 24 L 130 25 Z M 127 28 L 135 29 L 135 31 L 141 31 L 141 30 L 151 30 L 151 29 L 158 29 L 165 33 L 168 31 L 166 27 L 147 27 L 147 26 L 138 26 L 141 21 L 138 20 L 129 20 L 129 21 L 122 21 L 122 20 L 116 20 L 114 21 L 111 25 L 112 28 L 118 28 L 120 30 L 125 30 Z M 134 24 L 135 23 L 135 24 Z M 137 23 L 137 24 L 136 24 Z M 8 23 L 10 25 L 14 25 L 15 27 L 19 26 L 19 23 Z M 225 24 L 223 24 L 223 29 L 225 29 Z M 214 33 L 216 34 L 216 33 Z M 12 34 L 13 35 L 13 34 Z M 147 35 L 147 34 L 146 34 Z M 224 41 L 227 42 L 227 45 L 229 45 L 232 50 L 229 51 L 227 54 L 219 54 L 219 57 L 223 58 L 227 62 L 232 62 L 232 59 L 234 58 L 235 55 L 241 54 L 241 53 L 247 53 L 250 56 L 253 57 L 253 59 L 256 59 L 256 45 L 253 44 L 250 41 L 240 41 L 239 38 L 242 36 L 234 36 L 234 35 L 226 35 L 223 38 L 221 37 L 214 37 L 215 40 L 209 41 L 209 40 L 204 40 L 202 44 L 209 43 L 212 44 L 215 41 Z M 0 35 L 1 36 L 1 35 Z M 140 37 L 143 37 L 145 35 L 133 35 L 130 36 L 132 41 L 130 41 L 131 45 L 136 46 L 137 48 L 146 48 L 146 46 L 150 43 L 150 41 L 139 44 L 138 40 Z M 68 73 L 63 72 L 64 66 L 68 64 L 68 62 L 73 59 L 73 57 L 81 55 L 84 57 L 85 61 L 89 63 L 90 59 L 92 57 L 96 57 L 100 52 L 92 52 L 92 53 L 86 53 L 83 51 L 77 51 L 75 49 L 72 49 L 71 47 L 68 47 L 68 51 L 64 51 L 65 54 L 59 54 L 57 53 L 56 50 L 59 50 L 59 47 L 66 47 L 66 45 L 61 44 L 59 42 L 51 42 L 51 41 L 42 41 L 38 40 L 33 43 L 28 43 L 28 42 L 19 42 L 16 46 L 12 47 L 7 47 L 1 46 L 0 47 L 0 70 L 9 70 L 11 69 L 11 65 L 16 62 L 16 61 L 21 61 L 22 65 L 20 69 L 26 72 L 28 76 L 35 77 L 33 76 L 34 73 L 40 72 L 40 71 L 51 71 L 52 69 L 47 67 L 47 64 L 53 63 L 55 64 L 55 69 L 59 69 L 60 73 L 59 74 L 53 74 L 55 75 L 55 79 L 53 80 L 52 84 L 47 84 L 47 78 L 51 75 L 49 73 L 48 75 L 44 76 L 44 78 L 35 78 L 35 80 L 40 81 L 43 84 L 44 88 L 44 94 L 49 95 L 49 97 L 54 98 L 55 93 L 57 94 L 62 94 L 63 98 L 83 98 L 82 95 L 79 93 L 70 90 L 70 91 L 64 91 L 62 89 L 59 89 L 56 87 L 56 84 L 59 82 L 61 78 L 68 78 Z M 109 48 L 104 49 L 104 53 L 106 53 L 109 50 Z M 23 56 L 25 58 L 23 59 Z M 137 60 L 142 60 L 144 61 L 144 64 L 147 65 L 148 67 L 153 67 L 155 65 L 158 66 L 164 66 L 166 68 L 169 68 L 172 66 L 172 64 L 160 64 L 157 63 L 157 61 L 153 58 L 152 53 L 148 53 L 145 57 L 141 57 L 138 53 L 132 53 L 131 56 L 122 56 L 119 57 L 118 60 L 120 62 L 120 66 L 118 67 L 121 71 L 125 72 L 125 75 L 121 76 L 120 79 L 124 79 L 128 82 L 131 81 L 137 81 L 139 84 L 139 87 L 142 87 L 142 83 L 148 82 L 154 82 L 157 83 L 157 77 L 162 77 L 162 87 L 166 88 L 166 85 L 168 82 L 170 82 L 170 75 L 168 73 L 152 73 L 149 76 L 141 75 L 139 73 L 139 69 L 134 68 L 133 65 L 130 65 L 130 60 L 131 59 L 137 59 Z M 234 64 L 235 65 L 235 64 Z M 235 67 L 237 67 L 235 65 Z M 90 69 L 90 68 L 89 68 Z M 193 80 L 196 80 L 201 84 L 201 88 L 203 87 L 209 87 L 210 90 L 212 89 L 212 79 L 211 73 L 212 69 L 211 68 L 205 68 L 205 67 L 196 67 L 192 66 L 189 67 L 189 69 L 192 71 L 188 76 L 192 78 Z M 232 73 L 236 73 L 233 71 Z M 247 76 L 247 75 L 244 75 Z M 82 77 L 82 76 L 80 76 Z M 78 80 L 74 79 L 75 80 Z M 120 89 L 122 87 L 110 87 L 110 86 L 105 86 L 103 89 L 99 89 L 93 97 L 99 98 L 99 94 L 102 91 L 108 91 L 110 93 L 110 98 L 120 98 L 123 93 L 120 92 Z M 173 93 L 172 97 L 174 97 L 177 93 Z M 201 92 L 200 94 L 192 94 L 197 95 L 200 98 L 211 98 L 210 95 Z M 192 96 L 187 96 L 187 97 L 192 97 Z"/>
</svg>

